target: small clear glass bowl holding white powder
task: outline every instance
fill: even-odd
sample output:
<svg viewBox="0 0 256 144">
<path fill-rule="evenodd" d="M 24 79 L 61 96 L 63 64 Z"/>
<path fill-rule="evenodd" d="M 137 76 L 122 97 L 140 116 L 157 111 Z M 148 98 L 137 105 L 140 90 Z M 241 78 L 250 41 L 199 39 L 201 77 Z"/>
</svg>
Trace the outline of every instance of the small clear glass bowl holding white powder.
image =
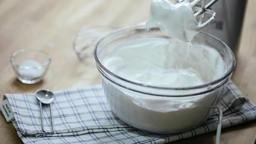
<svg viewBox="0 0 256 144">
<path fill-rule="evenodd" d="M 24 84 L 35 84 L 41 81 L 50 62 L 51 56 L 37 49 L 21 49 L 11 56 L 15 75 Z"/>
</svg>

